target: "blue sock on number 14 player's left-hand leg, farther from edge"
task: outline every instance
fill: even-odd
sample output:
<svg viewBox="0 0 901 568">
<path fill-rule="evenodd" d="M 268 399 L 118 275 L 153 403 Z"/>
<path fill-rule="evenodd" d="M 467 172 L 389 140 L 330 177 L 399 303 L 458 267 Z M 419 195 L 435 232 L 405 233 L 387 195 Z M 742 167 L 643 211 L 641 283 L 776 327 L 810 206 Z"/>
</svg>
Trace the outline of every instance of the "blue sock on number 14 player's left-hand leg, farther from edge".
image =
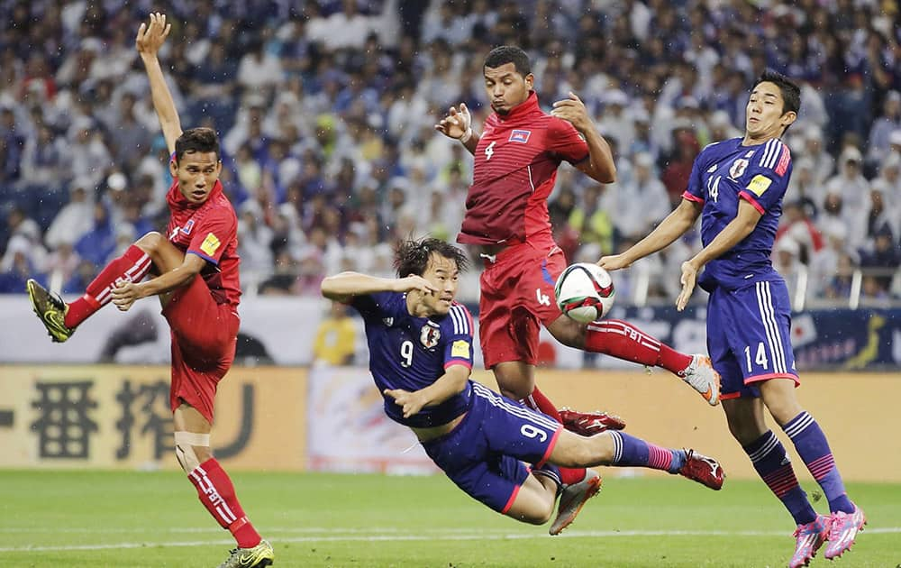
<svg viewBox="0 0 901 568">
<path fill-rule="evenodd" d="M 786 506 L 796 524 L 806 525 L 815 521 L 816 511 L 810 506 L 807 494 L 798 485 L 786 449 L 772 430 L 767 430 L 766 434 L 743 448 L 760 478 Z"/>
</svg>

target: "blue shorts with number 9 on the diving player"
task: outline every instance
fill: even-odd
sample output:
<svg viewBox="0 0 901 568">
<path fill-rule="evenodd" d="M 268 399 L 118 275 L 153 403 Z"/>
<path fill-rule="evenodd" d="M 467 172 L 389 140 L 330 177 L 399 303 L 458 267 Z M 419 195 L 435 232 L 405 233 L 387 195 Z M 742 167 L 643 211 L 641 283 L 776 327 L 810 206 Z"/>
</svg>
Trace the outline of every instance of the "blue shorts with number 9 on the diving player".
<svg viewBox="0 0 901 568">
<path fill-rule="evenodd" d="M 506 513 L 529 477 L 526 463 L 542 466 L 563 426 L 478 382 L 472 398 L 460 424 L 423 448 L 457 487 Z"/>
</svg>

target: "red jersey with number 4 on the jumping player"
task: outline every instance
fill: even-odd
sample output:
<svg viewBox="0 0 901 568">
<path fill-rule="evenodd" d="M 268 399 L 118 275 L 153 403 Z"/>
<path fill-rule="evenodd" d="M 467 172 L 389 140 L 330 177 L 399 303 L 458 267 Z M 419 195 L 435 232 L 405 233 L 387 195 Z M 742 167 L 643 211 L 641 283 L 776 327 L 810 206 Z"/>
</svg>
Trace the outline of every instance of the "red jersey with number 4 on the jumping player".
<svg viewBox="0 0 901 568">
<path fill-rule="evenodd" d="M 532 92 L 507 115 L 492 113 L 478 141 L 472 186 L 458 243 L 497 244 L 551 239 L 547 199 L 562 160 L 588 157 L 569 122 L 548 115 Z"/>
</svg>

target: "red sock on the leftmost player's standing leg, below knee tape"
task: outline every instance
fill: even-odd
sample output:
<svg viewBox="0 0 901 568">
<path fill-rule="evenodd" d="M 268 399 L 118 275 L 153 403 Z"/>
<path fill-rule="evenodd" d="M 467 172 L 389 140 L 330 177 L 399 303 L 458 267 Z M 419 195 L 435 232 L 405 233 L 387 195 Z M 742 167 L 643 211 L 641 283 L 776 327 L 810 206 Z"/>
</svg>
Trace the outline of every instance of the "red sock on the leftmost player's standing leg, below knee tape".
<svg viewBox="0 0 901 568">
<path fill-rule="evenodd" d="M 220 527 L 227 528 L 240 548 L 259 545 L 259 533 L 250 524 L 234 493 L 232 480 L 215 458 L 198 465 L 187 475 L 197 488 L 197 496 Z"/>
</svg>

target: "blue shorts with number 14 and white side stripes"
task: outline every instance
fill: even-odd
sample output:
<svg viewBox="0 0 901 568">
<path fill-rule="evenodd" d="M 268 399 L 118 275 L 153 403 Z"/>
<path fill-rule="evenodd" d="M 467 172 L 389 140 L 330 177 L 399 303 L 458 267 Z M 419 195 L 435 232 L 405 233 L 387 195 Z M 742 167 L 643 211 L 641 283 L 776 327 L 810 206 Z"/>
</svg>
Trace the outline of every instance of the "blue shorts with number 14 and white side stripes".
<svg viewBox="0 0 901 568">
<path fill-rule="evenodd" d="M 707 352 L 720 373 L 720 399 L 760 397 L 754 383 L 800 384 L 791 348 L 791 307 L 782 280 L 716 288 L 707 300 Z"/>
</svg>

